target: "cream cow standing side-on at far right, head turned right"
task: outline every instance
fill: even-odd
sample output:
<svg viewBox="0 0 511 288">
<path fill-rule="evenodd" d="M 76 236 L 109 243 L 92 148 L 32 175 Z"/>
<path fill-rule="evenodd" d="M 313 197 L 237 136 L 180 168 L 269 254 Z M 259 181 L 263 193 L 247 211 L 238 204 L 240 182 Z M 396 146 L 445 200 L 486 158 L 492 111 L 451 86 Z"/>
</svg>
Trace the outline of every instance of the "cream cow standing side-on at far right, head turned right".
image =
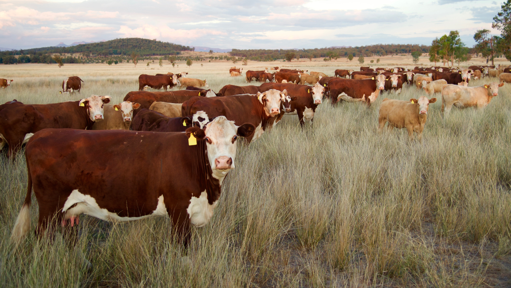
<svg viewBox="0 0 511 288">
<path fill-rule="evenodd" d="M 491 82 L 482 86 L 466 87 L 455 84 L 442 88 L 442 113 L 449 115 L 452 106 L 457 108 L 486 107 L 492 98 L 499 95 L 499 87 L 504 83 Z"/>
</svg>

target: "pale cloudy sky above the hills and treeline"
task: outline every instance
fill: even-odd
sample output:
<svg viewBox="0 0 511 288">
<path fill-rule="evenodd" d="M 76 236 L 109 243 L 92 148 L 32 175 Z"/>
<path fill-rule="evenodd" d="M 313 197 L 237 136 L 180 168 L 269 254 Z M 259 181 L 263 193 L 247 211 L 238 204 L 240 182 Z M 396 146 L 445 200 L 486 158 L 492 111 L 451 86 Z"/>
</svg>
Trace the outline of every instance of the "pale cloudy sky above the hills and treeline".
<svg viewBox="0 0 511 288">
<path fill-rule="evenodd" d="M 458 30 L 474 45 L 502 2 L 457 0 L 0 0 L 0 47 L 141 37 L 221 49 L 430 45 Z"/>
</svg>

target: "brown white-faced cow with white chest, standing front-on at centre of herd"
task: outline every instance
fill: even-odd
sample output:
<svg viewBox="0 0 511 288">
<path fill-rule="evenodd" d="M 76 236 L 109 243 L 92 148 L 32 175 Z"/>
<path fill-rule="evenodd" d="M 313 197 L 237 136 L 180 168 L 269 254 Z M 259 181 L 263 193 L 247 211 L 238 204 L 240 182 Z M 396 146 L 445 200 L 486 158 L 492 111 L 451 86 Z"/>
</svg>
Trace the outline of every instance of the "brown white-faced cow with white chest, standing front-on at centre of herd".
<svg viewBox="0 0 511 288">
<path fill-rule="evenodd" d="M 286 92 L 290 98 L 290 107 L 285 109 L 286 115 L 298 115 L 298 121 L 303 126 L 305 120 L 313 121 L 316 107 L 322 103 L 324 87 L 316 83 L 314 86 L 266 83 L 259 86 L 259 91 L 271 89 Z M 296 99 L 295 99 L 296 97 Z"/>
</svg>

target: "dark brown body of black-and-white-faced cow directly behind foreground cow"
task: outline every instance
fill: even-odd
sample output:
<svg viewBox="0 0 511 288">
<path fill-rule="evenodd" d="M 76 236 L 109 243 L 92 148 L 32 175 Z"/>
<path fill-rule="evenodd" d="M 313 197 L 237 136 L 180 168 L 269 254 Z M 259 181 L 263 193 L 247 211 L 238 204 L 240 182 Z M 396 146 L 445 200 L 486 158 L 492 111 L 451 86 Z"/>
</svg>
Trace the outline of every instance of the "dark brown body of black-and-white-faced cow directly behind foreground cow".
<svg viewBox="0 0 511 288">
<path fill-rule="evenodd" d="M 181 111 L 178 117 L 168 117 L 150 109 L 141 109 L 133 118 L 131 125 L 133 131 L 153 132 L 184 132 L 190 127 L 193 127 L 192 119 L 181 117 Z"/>
</svg>

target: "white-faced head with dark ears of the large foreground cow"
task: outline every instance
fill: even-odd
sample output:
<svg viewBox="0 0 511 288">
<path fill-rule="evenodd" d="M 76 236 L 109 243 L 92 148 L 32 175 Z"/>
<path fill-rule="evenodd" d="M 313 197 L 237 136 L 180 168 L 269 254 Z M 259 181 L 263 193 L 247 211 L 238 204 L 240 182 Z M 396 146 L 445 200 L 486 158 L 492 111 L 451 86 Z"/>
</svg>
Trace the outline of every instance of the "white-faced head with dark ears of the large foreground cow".
<svg viewBox="0 0 511 288">
<path fill-rule="evenodd" d="M 249 137 L 255 130 L 254 125 L 245 123 L 236 126 L 224 116 L 218 116 L 207 123 L 205 131 L 198 127 L 188 128 L 186 134 L 193 133 L 196 138 L 206 140 L 207 158 L 210 161 L 213 177 L 220 180 L 220 184 L 229 172 L 235 168 L 236 144 L 238 137 Z M 201 137 L 202 136 L 202 137 Z"/>
</svg>

